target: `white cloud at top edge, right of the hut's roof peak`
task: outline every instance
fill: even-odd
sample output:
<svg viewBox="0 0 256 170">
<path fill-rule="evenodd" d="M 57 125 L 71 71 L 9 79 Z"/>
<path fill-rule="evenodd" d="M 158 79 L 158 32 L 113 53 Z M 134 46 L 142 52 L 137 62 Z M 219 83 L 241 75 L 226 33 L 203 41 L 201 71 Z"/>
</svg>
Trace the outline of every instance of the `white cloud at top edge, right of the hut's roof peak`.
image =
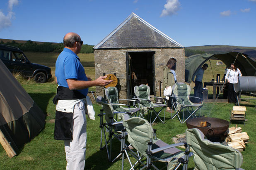
<svg viewBox="0 0 256 170">
<path fill-rule="evenodd" d="M 167 0 L 167 3 L 164 5 L 164 9 L 162 10 L 162 14 L 160 17 L 164 17 L 167 15 L 173 15 L 176 14 L 177 11 L 179 11 L 181 3 L 179 0 Z"/>
</svg>

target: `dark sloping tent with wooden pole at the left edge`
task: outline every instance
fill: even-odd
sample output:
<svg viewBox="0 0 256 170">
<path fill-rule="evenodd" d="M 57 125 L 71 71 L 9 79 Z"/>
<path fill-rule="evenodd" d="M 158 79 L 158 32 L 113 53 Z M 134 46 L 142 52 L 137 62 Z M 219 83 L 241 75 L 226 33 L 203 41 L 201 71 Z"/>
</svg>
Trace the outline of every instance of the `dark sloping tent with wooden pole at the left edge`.
<svg viewBox="0 0 256 170">
<path fill-rule="evenodd" d="M 12 157 L 15 154 L 10 155 L 6 148 L 19 151 L 43 129 L 46 116 L 2 60 L 0 73 L 0 135 L 4 139 L 0 142 Z"/>
</svg>

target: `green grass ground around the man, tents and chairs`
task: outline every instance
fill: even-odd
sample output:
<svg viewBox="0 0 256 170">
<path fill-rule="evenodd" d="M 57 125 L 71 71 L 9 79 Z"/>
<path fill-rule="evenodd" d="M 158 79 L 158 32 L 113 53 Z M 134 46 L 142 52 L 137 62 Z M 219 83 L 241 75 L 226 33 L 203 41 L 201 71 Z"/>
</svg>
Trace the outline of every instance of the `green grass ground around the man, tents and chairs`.
<svg viewBox="0 0 256 170">
<path fill-rule="evenodd" d="M 54 75 L 54 64 L 58 54 L 56 53 L 25 53 L 31 62 L 44 64 L 52 68 Z M 94 79 L 94 59 L 93 54 L 79 54 L 82 64 L 85 66 L 87 75 Z M 45 62 L 47 61 L 47 62 Z M 208 61 L 209 62 L 209 61 Z M 209 68 L 205 71 L 204 81 L 210 81 L 213 78 L 213 73 L 208 63 Z M 225 66 L 216 66 L 216 61 L 211 61 L 213 72 L 216 77 L 217 73 L 223 75 Z M 53 139 L 54 119 L 55 119 L 55 105 L 52 99 L 56 94 L 57 85 L 54 82 L 47 82 L 44 84 L 37 84 L 34 81 L 24 80 L 18 77 L 19 82 L 24 89 L 39 105 L 44 113 L 47 113 L 45 128 L 37 135 L 31 142 L 24 145 L 24 148 L 17 156 L 10 159 L 5 153 L 2 146 L 0 146 L 0 170 L 63 170 L 65 169 L 65 151 L 64 142 Z M 191 84 L 193 87 L 193 84 Z M 209 94 L 211 94 L 209 87 Z M 96 115 L 99 113 L 101 106 L 93 102 Z M 244 162 L 242 168 L 246 170 L 255 169 L 255 153 L 256 153 L 256 134 L 254 132 L 256 127 L 255 105 L 256 101 L 243 101 L 242 106 L 246 106 L 246 118 L 248 122 L 246 125 L 238 124 L 242 127 L 243 132 L 247 132 L 250 137 L 250 142 L 246 144 L 245 151 L 242 152 Z M 201 114 L 208 115 L 213 103 L 205 103 L 201 109 Z M 233 104 L 216 103 L 210 117 L 222 118 L 229 120 L 229 111 Z M 107 161 L 106 150 L 101 151 L 100 146 L 100 128 L 99 118 L 95 116 L 96 120 L 87 119 L 87 152 L 86 152 L 86 170 L 117 170 L 121 168 L 121 159 L 114 163 Z M 162 115 L 163 117 L 163 115 Z M 154 128 L 157 129 L 157 137 L 164 142 L 171 144 L 171 138 L 177 134 L 182 134 L 186 130 L 186 124 L 180 124 L 177 118 L 169 119 L 170 114 L 166 115 L 166 123 L 157 123 Z M 235 126 L 235 124 L 230 124 Z M 114 154 L 119 153 L 120 145 L 118 141 L 114 140 Z M 125 160 L 125 169 L 129 169 L 128 161 Z M 188 169 L 193 170 L 193 158 L 190 158 Z"/>
</svg>

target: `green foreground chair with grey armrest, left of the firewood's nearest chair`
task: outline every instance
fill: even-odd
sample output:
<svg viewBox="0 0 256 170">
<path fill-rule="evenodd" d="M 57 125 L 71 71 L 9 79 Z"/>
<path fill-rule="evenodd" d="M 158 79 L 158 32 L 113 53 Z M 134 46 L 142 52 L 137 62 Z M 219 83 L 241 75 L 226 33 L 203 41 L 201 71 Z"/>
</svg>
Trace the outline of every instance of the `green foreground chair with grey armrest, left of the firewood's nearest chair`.
<svg viewBox="0 0 256 170">
<path fill-rule="evenodd" d="M 124 115 L 123 126 L 128 133 L 128 142 L 140 153 L 140 157 L 138 157 L 138 155 L 132 155 L 137 162 L 131 166 L 131 169 L 134 170 L 136 164 L 141 163 L 142 168 L 140 168 L 140 170 L 145 168 L 159 170 L 156 165 L 152 164 L 152 162 L 155 161 L 165 163 L 167 170 L 177 170 L 182 163 L 183 170 L 187 169 L 188 157 L 192 156 L 192 153 L 190 153 L 189 146 L 186 143 L 169 145 L 157 139 L 152 125 L 147 120 L 140 117 L 130 118 Z M 177 146 L 185 146 L 186 151 L 177 149 Z M 142 162 L 143 158 L 147 160 L 145 164 Z M 160 165 L 162 166 L 162 164 Z M 136 169 L 139 169 L 139 166 L 137 166 Z"/>
</svg>

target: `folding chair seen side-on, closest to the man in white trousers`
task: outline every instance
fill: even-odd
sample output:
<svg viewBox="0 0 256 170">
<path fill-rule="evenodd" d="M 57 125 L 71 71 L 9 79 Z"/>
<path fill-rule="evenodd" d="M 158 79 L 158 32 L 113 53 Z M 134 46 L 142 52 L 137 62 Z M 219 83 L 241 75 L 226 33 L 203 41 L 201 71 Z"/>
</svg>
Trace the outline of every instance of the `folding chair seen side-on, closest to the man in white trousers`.
<svg viewBox="0 0 256 170">
<path fill-rule="evenodd" d="M 121 134 L 123 131 L 125 131 L 122 121 L 116 122 L 114 120 L 114 114 L 127 113 L 127 112 L 114 112 L 113 106 L 115 106 L 116 104 L 109 104 L 107 100 L 101 96 L 98 96 L 96 98 L 96 102 L 98 104 L 101 104 L 103 107 L 103 109 L 100 110 L 100 114 L 98 115 L 100 117 L 99 127 L 101 128 L 100 149 L 103 150 L 104 148 L 106 148 L 108 160 L 114 162 L 117 158 L 119 158 L 122 155 L 121 153 L 123 150 L 122 142 L 124 142 L 124 139 L 122 138 Z M 125 106 L 125 104 L 118 104 L 118 105 Z M 103 117 L 105 117 L 106 123 L 104 123 Z M 106 135 L 106 132 L 108 132 L 109 135 Z M 118 139 L 121 142 L 121 152 L 118 154 L 118 156 L 116 156 L 116 158 L 111 159 L 112 140 L 114 138 Z M 124 145 L 124 146 L 127 146 L 127 145 Z"/>
</svg>

